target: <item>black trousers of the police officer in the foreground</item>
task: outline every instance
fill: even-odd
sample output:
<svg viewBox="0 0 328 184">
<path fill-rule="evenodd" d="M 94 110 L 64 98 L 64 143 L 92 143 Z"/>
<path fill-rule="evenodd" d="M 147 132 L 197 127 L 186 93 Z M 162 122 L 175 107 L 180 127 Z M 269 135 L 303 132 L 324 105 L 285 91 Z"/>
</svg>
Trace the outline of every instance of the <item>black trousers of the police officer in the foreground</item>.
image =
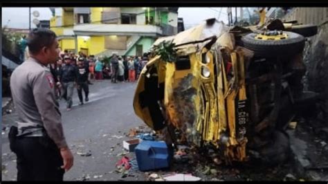
<svg viewBox="0 0 328 184">
<path fill-rule="evenodd" d="M 16 140 L 17 181 L 63 181 L 60 150 L 48 137 Z"/>
</svg>

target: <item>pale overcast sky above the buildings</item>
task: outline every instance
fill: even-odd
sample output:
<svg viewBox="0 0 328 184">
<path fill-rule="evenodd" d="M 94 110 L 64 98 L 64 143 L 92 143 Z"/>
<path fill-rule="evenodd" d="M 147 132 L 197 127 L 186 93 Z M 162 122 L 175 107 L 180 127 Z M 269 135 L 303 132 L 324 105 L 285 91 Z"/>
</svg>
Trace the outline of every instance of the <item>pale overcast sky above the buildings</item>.
<svg viewBox="0 0 328 184">
<path fill-rule="evenodd" d="M 49 8 L 31 8 L 31 12 L 39 11 L 39 20 L 51 19 L 51 10 Z M 220 13 L 221 12 L 221 13 Z M 220 15 L 220 17 L 219 17 Z M 9 28 L 28 28 L 28 8 L 2 8 L 2 26 Z M 227 22 L 226 8 L 179 8 L 179 17 L 183 18 L 185 28 L 199 24 L 201 21 L 209 18 L 217 18 Z M 31 21 L 36 18 L 31 15 Z M 31 23 L 31 27 L 35 25 Z"/>
</svg>

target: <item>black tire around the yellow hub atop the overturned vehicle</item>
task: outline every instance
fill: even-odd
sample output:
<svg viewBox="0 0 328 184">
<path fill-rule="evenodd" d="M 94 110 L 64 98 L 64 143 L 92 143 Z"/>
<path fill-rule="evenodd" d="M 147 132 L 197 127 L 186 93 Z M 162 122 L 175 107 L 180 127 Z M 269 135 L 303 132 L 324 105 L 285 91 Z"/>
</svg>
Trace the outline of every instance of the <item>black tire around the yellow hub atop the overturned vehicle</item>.
<svg viewBox="0 0 328 184">
<path fill-rule="evenodd" d="M 287 39 L 281 40 L 261 40 L 255 39 L 257 33 L 250 33 L 242 37 L 244 47 L 253 50 L 258 57 L 290 57 L 297 53 L 302 53 L 305 39 L 297 33 L 284 31 L 288 35 Z"/>
</svg>

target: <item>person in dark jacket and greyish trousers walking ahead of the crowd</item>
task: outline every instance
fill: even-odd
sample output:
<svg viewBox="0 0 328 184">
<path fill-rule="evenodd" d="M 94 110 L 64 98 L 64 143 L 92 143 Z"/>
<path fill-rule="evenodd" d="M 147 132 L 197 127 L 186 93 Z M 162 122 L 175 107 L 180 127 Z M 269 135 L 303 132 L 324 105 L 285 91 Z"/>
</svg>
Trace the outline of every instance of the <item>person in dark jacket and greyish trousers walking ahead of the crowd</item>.
<svg viewBox="0 0 328 184">
<path fill-rule="evenodd" d="M 77 80 L 77 68 L 71 64 L 72 59 L 68 55 L 64 57 L 65 66 L 60 69 L 60 83 L 62 84 L 62 98 L 66 100 L 66 110 L 71 111 L 73 105 L 73 90 Z"/>
</svg>

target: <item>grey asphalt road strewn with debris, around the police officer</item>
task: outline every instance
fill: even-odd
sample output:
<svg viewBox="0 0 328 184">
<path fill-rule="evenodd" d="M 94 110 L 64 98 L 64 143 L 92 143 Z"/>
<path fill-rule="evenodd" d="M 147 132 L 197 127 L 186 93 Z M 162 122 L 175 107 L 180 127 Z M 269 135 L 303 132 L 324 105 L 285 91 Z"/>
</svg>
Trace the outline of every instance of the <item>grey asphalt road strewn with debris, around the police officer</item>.
<svg viewBox="0 0 328 184">
<path fill-rule="evenodd" d="M 78 94 L 73 94 L 73 108 L 66 111 L 64 100 L 60 102 L 66 141 L 74 155 L 72 169 L 64 175 L 65 181 L 117 181 L 120 174 L 114 172 L 122 156 L 122 140 L 128 140 L 129 129 L 144 125 L 136 117 L 132 106 L 136 83 L 111 84 L 109 80 L 90 85 L 89 102 L 78 105 Z M 15 110 L 3 116 L 3 127 L 10 127 L 17 120 Z M 122 137 L 121 137 L 122 136 Z M 16 156 L 8 145 L 8 128 L 2 131 L 2 179 L 15 181 Z M 81 156 L 86 152 L 91 156 Z M 133 157 L 133 153 L 127 154 Z M 144 180 L 143 174 L 129 176 L 125 180 Z"/>
</svg>

